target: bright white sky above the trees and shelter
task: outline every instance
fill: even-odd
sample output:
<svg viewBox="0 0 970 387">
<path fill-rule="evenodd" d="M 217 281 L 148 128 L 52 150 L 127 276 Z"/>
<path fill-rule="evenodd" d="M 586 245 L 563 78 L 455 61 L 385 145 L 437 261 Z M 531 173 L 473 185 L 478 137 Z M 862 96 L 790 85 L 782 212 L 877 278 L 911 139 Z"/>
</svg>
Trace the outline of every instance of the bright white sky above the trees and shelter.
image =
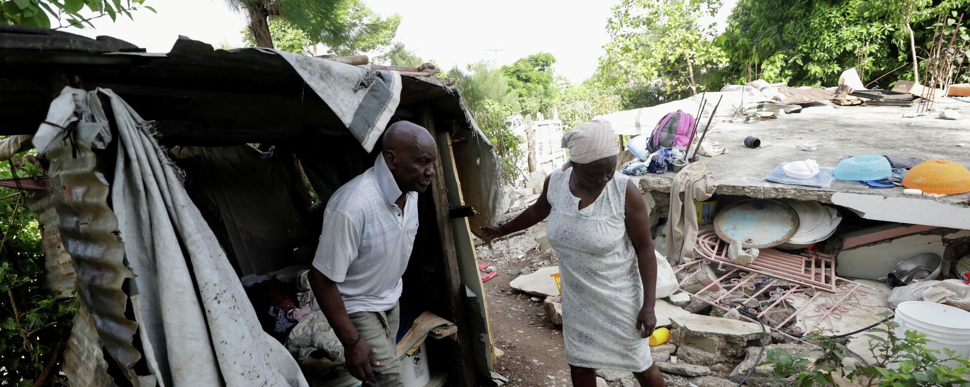
<svg viewBox="0 0 970 387">
<path fill-rule="evenodd" d="M 443 70 L 481 59 L 509 64 L 531 53 L 556 56 L 555 71 L 572 83 L 596 71 L 602 46 L 608 41 L 606 20 L 619 0 L 364 0 L 381 15 L 401 14 L 396 41 Z M 726 0 L 723 21 L 737 0 Z M 570 4 L 571 3 L 571 4 Z M 158 11 L 141 10 L 135 20 L 108 16 L 93 20 L 95 29 L 66 28 L 85 36 L 109 35 L 147 48 L 168 52 L 184 35 L 213 46 L 241 45 L 245 16 L 223 0 L 147 0 Z"/>
</svg>

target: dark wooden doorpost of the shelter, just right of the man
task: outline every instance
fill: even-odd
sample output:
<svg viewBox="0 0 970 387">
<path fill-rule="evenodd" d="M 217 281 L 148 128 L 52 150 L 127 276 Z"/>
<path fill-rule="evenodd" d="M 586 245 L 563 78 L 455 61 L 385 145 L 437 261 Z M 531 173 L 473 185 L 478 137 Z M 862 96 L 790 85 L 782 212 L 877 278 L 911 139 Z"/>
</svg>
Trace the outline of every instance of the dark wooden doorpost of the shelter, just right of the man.
<svg viewBox="0 0 970 387">
<path fill-rule="evenodd" d="M 428 105 L 422 105 L 419 108 L 418 124 L 428 129 L 432 137 L 437 137 L 435 115 Z M 457 350 L 454 354 L 457 363 L 455 374 L 457 374 L 458 380 L 455 380 L 453 385 L 472 387 L 477 384 L 475 366 L 471 362 L 473 354 L 470 343 L 473 335 L 469 332 L 471 327 L 465 313 L 463 301 L 465 289 L 462 288 L 461 276 L 458 271 L 458 252 L 455 251 L 455 236 L 451 229 L 451 218 L 449 216 L 451 209 L 444 180 L 444 174 L 448 171 L 445 171 L 444 167 L 441 166 L 442 156 L 439 151 L 435 160 L 435 177 L 432 177 L 431 189 L 435 198 L 437 230 L 441 239 L 441 258 L 446 278 L 448 310 L 451 311 L 451 316 L 448 317 L 458 326 L 459 343 L 455 345 Z"/>
</svg>

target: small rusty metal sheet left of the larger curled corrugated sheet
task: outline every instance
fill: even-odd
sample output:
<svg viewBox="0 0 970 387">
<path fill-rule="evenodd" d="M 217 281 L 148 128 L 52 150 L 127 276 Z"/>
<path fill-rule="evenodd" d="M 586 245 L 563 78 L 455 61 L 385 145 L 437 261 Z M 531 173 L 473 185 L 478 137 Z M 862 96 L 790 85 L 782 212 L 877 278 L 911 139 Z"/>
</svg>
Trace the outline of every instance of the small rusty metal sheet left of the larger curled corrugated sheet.
<svg viewBox="0 0 970 387">
<path fill-rule="evenodd" d="M 27 201 L 27 208 L 37 214 L 41 225 L 41 248 L 44 250 L 44 289 L 61 297 L 74 297 L 74 265 L 57 232 L 57 212 L 50 191 L 38 191 Z"/>
</svg>

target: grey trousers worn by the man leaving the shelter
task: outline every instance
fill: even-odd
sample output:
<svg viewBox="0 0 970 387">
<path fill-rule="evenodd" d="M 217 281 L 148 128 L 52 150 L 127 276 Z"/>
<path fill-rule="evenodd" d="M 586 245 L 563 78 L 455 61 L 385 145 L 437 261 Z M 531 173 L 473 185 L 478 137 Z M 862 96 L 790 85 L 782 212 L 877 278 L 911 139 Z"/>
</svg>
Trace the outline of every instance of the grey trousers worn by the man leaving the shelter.
<svg viewBox="0 0 970 387">
<path fill-rule="evenodd" d="M 374 378 L 363 380 L 364 384 L 375 387 L 403 386 L 397 350 L 400 305 L 387 311 L 359 311 L 348 316 L 361 337 L 371 344 L 373 358 L 380 363 L 380 367 L 373 368 Z"/>
</svg>

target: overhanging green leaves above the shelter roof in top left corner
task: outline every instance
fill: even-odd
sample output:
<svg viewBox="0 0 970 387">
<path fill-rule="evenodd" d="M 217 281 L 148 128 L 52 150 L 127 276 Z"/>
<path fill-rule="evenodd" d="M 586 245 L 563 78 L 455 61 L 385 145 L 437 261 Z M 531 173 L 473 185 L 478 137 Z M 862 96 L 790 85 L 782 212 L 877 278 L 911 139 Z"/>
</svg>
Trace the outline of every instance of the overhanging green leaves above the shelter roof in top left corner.
<svg viewBox="0 0 970 387">
<path fill-rule="evenodd" d="M 51 18 L 58 21 L 64 16 L 68 24 L 55 29 L 66 26 L 93 28 L 90 21 L 93 18 L 110 16 L 114 20 L 118 15 L 133 18 L 131 12 L 142 8 L 155 12 L 144 3 L 145 0 L 0 0 L 0 24 L 50 28 Z M 95 16 L 81 16 L 85 7 Z"/>
</svg>

